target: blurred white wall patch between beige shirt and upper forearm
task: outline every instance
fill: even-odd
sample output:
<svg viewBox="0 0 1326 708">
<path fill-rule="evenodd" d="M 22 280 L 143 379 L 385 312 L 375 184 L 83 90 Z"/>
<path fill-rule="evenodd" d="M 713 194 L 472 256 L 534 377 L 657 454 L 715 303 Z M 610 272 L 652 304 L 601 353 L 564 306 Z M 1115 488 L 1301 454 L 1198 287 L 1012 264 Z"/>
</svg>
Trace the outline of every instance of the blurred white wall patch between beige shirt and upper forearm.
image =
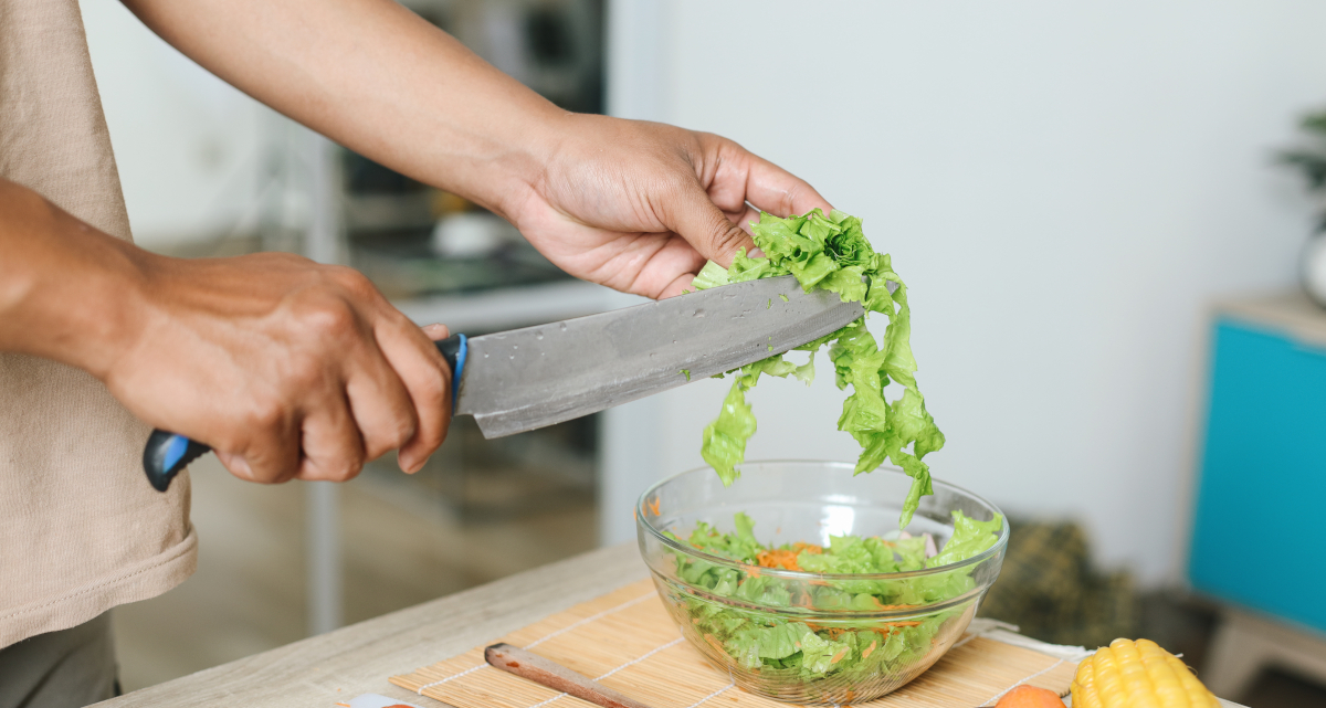
<svg viewBox="0 0 1326 708">
<path fill-rule="evenodd" d="M 134 239 L 221 236 L 253 217 L 272 111 L 152 34 L 117 0 L 81 0 Z"/>
</svg>

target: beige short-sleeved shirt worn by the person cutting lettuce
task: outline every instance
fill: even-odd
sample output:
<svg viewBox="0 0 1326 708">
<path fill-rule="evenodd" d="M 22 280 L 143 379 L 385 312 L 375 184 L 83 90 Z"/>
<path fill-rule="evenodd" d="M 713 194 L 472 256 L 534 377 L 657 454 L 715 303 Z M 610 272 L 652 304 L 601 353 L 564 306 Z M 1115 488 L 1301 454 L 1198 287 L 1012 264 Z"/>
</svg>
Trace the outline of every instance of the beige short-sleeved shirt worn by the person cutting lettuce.
<svg viewBox="0 0 1326 708">
<path fill-rule="evenodd" d="M 0 0 L 0 176 L 130 239 L 77 0 Z M 0 647 L 194 571 L 188 477 L 149 487 L 147 434 L 84 371 L 0 353 Z"/>
</svg>

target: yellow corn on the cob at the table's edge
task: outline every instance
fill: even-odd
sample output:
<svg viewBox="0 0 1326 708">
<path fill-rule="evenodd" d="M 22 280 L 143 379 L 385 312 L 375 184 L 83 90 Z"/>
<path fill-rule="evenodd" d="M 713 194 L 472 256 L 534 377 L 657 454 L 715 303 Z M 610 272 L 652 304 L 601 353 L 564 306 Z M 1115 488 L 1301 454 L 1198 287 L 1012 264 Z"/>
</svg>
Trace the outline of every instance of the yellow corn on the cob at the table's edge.
<svg viewBox="0 0 1326 708">
<path fill-rule="evenodd" d="M 1078 664 L 1073 708 L 1220 708 L 1177 658 L 1150 639 L 1115 639 Z"/>
</svg>

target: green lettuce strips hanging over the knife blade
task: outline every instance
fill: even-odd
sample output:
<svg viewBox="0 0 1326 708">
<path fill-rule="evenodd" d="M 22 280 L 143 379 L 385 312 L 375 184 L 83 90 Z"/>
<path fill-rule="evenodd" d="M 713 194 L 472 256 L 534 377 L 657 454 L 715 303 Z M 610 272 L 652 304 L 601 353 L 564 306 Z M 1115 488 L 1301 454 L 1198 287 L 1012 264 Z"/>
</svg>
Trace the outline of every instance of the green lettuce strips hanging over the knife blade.
<svg viewBox="0 0 1326 708">
<path fill-rule="evenodd" d="M 760 223 L 751 227 L 764 256 L 748 257 L 744 251 L 739 252 L 729 268 L 709 261 L 695 277 L 695 289 L 792 274 L 808 293 L 825 289 L 838 293 L 843 302 L 859 301 L 867 313 L 887 317 L 888 326 L 876 343 L 863 317 L 797 347 L 810 353 L 805 365 L 797 366 L 776 354 L 729 371 L 737 373 L 736 381 L 723 400 L 719 418 L 704 428 L 700 455 L 717 471 L 723 484 L 731 485 L 740 476 L 737 465 L 745 460 L 747 440 L 756 431 L 745 392 L 754 387 L 761 374 L 793 375 L 809 384 L 814 379 L 815 351 L 827 343 L 838 388 L 851 386 L 838 430 L 850 434 L 861 445 L 857 473 L 876 469 L 887 459 L 912 477 L 899 520 L 899 528 L 906 528 L 920 497 L 934 493 L 930 467 L 922 459 L 944 447 L 944 434 L 926 411 L 926 398 L 916 386 L 907 285 L 894 272 L 888 255 L 871 248 L 855 216 L 837 209 L 827 216 L 812 209 L 788 219 L 761 213 Z M 898 288 L 890 293 L 887 282 Z M 902 386 L 902 395 L 892 402 L 884 396 L 890 382 Z"/>
</svg>

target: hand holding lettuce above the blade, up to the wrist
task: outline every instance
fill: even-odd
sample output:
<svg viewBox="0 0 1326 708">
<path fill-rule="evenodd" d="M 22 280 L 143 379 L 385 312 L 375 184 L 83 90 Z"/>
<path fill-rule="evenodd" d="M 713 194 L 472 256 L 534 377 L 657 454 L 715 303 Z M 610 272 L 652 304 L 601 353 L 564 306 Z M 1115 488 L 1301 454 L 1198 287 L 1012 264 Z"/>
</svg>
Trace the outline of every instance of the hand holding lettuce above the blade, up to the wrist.
<svg viewBox="0 0 1326 708">
<path fill-rule="evenodd" d="M 760 209 L 830 206 L 809 184 L 708 133 L 602 115 L 565 115 L 529 188 L 501 206 L 568 273 L 652 298 L 691 286 L 705 259 L 728 265 L 753 244 Z"/>
</svg>

